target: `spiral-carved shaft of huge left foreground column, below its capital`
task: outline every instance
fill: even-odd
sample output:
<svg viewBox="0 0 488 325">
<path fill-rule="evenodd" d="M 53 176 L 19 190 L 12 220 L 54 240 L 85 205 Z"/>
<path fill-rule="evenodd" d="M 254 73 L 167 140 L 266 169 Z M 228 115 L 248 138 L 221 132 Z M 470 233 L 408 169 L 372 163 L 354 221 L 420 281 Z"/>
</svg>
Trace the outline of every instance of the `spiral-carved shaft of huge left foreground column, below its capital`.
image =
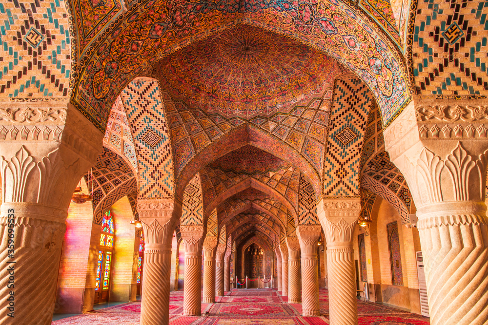
<svg viewBox="0 0 488 325">
<path fill-rule="evenodd" d="M 29 203 L 4 203 L 1 215 L 1 245 L 13 251 L 0 253 L 0 323 L 51 324 L 66 230 L 57 216 L 66 217 L 66 212 Z"/>
</svg>

